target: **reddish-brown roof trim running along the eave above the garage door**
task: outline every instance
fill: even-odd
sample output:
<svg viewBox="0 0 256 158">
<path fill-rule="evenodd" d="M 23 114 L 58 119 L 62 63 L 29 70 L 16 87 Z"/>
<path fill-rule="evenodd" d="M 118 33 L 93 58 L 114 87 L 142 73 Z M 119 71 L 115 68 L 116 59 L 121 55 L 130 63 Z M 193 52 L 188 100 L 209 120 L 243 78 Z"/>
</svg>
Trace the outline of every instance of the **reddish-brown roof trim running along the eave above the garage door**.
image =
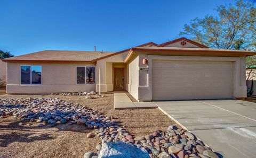
<svg viewBox="0 0 256 158">
<path fill-rule="evenodd" d="M 156 48 L 156 47 L 155 47 Z M 198 52 L 199 54 L 214 54 L 214 55 L 239 55 L 239 56 L 254 56 L 256 55 L 256 52 L 253 51 L 239 51 L 239 50 L 209 50 L 209 49 L 202 49 L 202 50 L 186 50 L 186 49 L 150 49 L 150 48 L 132 48 L 129 52 L 129 54 L 124 59 L 124 63 L 128 62 L 130 56 L 133 54 L 134 51 L 145 51 L 145 52 L 180 52 L 180 53 L 187 53 L 187 52 Z"/>
</svg>

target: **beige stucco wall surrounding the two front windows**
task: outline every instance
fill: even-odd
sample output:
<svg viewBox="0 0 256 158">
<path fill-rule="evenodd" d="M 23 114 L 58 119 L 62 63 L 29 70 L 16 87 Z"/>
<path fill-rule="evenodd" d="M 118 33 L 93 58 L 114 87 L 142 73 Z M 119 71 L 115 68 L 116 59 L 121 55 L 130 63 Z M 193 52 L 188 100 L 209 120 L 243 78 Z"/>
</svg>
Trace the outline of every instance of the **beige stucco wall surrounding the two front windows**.
<svg viewBox="0 0 256 158">
<path fill-rule="evenodd" d="M 41 65 L 42 85 L 21 85 L 21 65 Z M 95 63 L 7 63 L 7 93 L 58 93 L 95 91 L 95 84 L 76 84 L 76 66 L 96 65 Z"/>
</svg>

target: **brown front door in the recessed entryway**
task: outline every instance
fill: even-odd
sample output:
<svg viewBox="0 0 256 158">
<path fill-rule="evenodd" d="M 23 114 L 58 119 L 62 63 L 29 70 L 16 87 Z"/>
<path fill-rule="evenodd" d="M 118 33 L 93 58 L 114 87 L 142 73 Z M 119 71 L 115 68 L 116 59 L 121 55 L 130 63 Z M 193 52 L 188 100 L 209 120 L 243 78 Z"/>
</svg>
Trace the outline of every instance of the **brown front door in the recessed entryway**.
<svg viewBox="0 0 256 158">
<path fill-rule="evenodd" d="M 124 90 L 124 68 L 114 68 L 114 91 Z"/>
</svg>

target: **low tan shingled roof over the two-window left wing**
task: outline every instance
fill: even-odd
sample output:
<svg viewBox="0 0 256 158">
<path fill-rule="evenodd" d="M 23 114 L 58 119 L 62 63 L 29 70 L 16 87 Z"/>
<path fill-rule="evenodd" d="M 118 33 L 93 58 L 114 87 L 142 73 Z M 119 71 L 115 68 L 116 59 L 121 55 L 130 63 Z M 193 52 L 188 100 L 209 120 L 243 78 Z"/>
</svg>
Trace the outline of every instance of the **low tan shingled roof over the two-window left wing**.
<svg viewBox="0 0 256 158">
<path fill-rule="evenodd" d="M 3 62 L 91 62 L 114 54 L 110 51 L 43 50 L 21 56 L 2 59 Z"/>
</svg>

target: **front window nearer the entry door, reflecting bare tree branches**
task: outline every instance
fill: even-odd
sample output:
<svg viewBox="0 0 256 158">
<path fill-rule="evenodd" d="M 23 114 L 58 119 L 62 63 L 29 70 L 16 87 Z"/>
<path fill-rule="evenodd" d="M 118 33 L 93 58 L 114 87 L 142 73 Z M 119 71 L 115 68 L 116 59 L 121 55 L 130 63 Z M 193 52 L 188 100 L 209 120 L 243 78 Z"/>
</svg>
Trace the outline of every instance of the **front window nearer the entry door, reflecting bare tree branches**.
<svg viewBox="0 0 256 158">
<path fill-rule="evenodd" d="M 95 84 L 95 66 L 77 66 L 76 83 Z"/>
</svg>

